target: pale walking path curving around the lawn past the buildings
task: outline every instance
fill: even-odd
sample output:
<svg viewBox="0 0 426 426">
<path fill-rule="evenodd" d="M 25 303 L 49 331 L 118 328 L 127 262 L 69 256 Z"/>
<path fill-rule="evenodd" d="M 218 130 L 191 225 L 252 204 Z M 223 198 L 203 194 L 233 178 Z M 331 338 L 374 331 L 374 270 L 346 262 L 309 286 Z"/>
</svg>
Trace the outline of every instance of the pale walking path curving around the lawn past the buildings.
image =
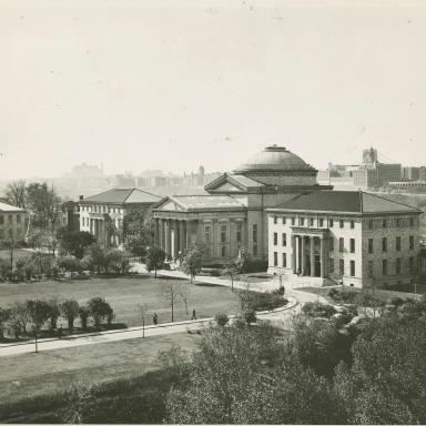
<svg viewBox="0 0 426 426">
<path fill-rule="evenodd" d="M 146 273 L 144 265 L 142 264 L 132 264 L 133 271 L 138 273 Z M 173 276 L 176 278 L 187 278 L 185 274 L 181 271 L 159 271 L 159 275 L 163 276 Z M 195 282 L 223 285 L 231 287 L 231 282 L 229 280 L 221 280 L 214 276 L 200 276 L 195 280 Z M 277 280 L 271 280 L 258 283 L 244 283 L 240 281 L 235 281 L 233 284 L 234 288 L 244 288 L 251 290 L 255 292 L 266 292 L 276 290 L 280 287 L 280 283 Z M 314 302 L 320 300 L 323 303 L 327 303 L 324 297 L 317 296 L 312 293 L 301 292 L 297 290 L 287 290 L 285 291 L 286 298 L 288 300 L 288 304 L 284 307 L 274 310 L 273 312 L 258 312 L 257 316 L 268 320 L 274 323 L 284 323 L 288 320 L 294 313 L 298 312 L 301 304 L 306 302 Z M 230 315 L 230 318 L 233 318 L 235 315 Z M 202 328 L 209 323 L 212 323 L 214 318 L 202 318 L 196 321 L 182 321 L 175 323 L 165 323 L 159 325 L 148 325 L 144 327 L 131 327 L 125 329 L 115 329 L 100 333 L 88 333 L 83 335 L 75 336 L 67 336 L 62 338 L 44 338 L 38 341 L 39 351 L 52 351 L 52 349 L 61 349 L 65 347 L 73 346 L 84 346 L 92 345 L 97 343 L 108 343 L 108 342 L 118 342 L 131 338 L 142 338 L 151 337 L 151 336 L 160 336 L 164 334 L 173 334 L 173 333 L 185 333 L 193 332 Z M 36 349 L 36 343 L 32 342 L 23 342 L 23 343 L 13 343 L 13 344 L 4 344 L 0 345 L 0 356 L 8 355 L 19 355 L 19 354 L 28 354 L 32 353 Z"/>
</svg>

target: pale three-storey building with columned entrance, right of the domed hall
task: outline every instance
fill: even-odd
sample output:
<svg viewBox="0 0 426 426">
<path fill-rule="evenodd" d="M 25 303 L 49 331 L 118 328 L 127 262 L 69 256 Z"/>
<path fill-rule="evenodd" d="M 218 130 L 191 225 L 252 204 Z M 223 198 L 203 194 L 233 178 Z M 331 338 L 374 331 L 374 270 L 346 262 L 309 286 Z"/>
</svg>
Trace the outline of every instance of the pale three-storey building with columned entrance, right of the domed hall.
<svg viewBox="0 0 426 426">
<path fill-rule="evenodd" d="M 268 272 L 301 285 L 412 283 L 422 211 L 377 195 L 321 191 L 268 210 Z"/>
</svg>

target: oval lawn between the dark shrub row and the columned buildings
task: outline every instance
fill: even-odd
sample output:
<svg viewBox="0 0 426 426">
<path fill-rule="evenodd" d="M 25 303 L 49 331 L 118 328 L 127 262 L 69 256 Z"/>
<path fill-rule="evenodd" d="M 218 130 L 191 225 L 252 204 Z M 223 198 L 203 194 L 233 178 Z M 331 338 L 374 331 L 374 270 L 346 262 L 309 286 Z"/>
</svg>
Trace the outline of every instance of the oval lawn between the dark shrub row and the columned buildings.
<svg viewBox="0 0 426 426">
<path fill-rule="evenodd" d="M 60 301 L 75 298 L 83 303 L 91 297 L 101 296 L 111 304 L 115 313 L 115 323 L 124 323 L 129 327 L 142 325 L 139 305 L 148 305 L 151 314 L 148 324 L 152 324 L 152 313 L 159 316 L 159 323 L 171 321 L 171 308 L 162 301 L 160 287 L 169 280 L 153 278 L 150 275 L 131 275 L 112 278 L 91 278 L 72 281 L 41 281 L 26 283 L 0 283 L 0 306 L 27 298 L 51 298 Z M 192 310 L 196 316 L 211 317 L 217 312 L 235 313 L 239 310 L 236 295 L 224 286 L 197 283 L 190 285 L 189 315 L 185 305 L 179 302 L 174 308 L 174 321 L 190 320 Z M 78 325 L 78 323 L 77 323 Z M 63 327 L 65 327 L 63 323 Z"/>
</svg>

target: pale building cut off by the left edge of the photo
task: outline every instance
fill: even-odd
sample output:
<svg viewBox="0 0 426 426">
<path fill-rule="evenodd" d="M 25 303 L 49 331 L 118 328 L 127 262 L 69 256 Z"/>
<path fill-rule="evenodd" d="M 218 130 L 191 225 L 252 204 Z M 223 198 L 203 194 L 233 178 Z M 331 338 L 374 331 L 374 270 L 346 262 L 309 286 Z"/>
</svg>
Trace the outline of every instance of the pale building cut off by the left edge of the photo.
<svg viewBox="0 0 426 426">
<path fill-rule="evenodd" d="M 28 213 L 23 209 L 0 202 L 0 245 L 24 240 Z"/>
</svg>

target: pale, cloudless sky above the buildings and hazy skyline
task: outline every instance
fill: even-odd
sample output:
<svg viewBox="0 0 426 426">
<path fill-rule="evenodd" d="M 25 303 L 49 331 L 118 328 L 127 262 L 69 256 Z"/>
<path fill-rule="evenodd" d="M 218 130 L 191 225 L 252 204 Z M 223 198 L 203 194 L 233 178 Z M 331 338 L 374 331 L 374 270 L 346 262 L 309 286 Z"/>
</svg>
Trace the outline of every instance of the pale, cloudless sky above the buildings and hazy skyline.
<svg viewBox="0 0 426 426">
<path fill-rule="evenodd" d="M 426 164 L 426 1 L 0 0 L 0 179 Z"/>
</svg>

